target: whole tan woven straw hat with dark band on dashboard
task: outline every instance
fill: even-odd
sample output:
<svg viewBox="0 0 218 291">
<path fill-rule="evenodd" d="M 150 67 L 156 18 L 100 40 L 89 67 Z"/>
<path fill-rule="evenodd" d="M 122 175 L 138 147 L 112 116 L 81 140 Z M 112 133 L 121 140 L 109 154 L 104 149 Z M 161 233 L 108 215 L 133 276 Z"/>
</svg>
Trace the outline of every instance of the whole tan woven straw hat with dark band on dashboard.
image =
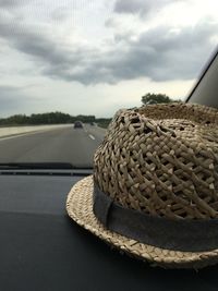
<svg viewBox="0 0 218 291">
<path fill-rule="evenodd" d="M 218 262 L 218 110 L 149 105 L 120 110 L 66 210 L 130 255 L 166 268 Z"/>
</svg>

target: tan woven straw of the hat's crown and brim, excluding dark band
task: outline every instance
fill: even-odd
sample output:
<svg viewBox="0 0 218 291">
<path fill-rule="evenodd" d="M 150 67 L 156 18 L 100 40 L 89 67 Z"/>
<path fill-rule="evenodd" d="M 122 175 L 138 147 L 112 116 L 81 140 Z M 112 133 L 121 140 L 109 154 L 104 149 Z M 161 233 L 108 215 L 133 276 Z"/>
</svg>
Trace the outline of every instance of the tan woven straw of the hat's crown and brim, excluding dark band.
<svg viewBox="0 0 218 291">
<path fill-rule="evenodd" d="M 204 106 L 150 105 L 120 110 L 94 157 L 94 180 L 123 207 L 173 220 L 218 218 L 218 111 Z M 218 250 L 169 251 L 107 230 L 93 214 L 93 177 L 71 190 L 73 220 L 153 266 L 202 268 Z"/>
</svg>

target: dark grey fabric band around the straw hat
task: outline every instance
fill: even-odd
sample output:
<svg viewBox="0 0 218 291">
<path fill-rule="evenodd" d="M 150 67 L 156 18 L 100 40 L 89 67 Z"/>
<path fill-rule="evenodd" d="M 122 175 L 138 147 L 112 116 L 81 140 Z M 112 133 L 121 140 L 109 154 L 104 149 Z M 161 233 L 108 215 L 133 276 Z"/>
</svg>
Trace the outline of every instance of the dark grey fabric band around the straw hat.
<svg viewBox="0 0 218 291">
<path fill-rule="evenodd" d="M 218 248 L 218 219 L 169 219 L 124 208 L 94 182 L 93 210 L 110 231 L 141 243 L 183 252 Z"/>
</svg>

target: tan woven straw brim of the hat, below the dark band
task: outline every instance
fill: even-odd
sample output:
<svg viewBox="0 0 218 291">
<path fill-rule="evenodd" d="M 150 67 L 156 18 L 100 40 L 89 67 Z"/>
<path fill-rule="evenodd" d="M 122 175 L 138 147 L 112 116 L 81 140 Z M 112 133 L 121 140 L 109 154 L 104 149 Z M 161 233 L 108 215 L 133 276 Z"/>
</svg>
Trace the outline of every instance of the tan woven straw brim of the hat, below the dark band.
<svg viewBox="0 0 218 291">
<path fill-rule="evenodd" d="M 93 175 L 78 181 L 68 195 L 66 211 L 77 225 L 99 239 L 152 266 L 198 269 L 218 263 L 218 250 L 197 253 L 164 250 L 107 230 L 93 213 Z"/>
</svg>

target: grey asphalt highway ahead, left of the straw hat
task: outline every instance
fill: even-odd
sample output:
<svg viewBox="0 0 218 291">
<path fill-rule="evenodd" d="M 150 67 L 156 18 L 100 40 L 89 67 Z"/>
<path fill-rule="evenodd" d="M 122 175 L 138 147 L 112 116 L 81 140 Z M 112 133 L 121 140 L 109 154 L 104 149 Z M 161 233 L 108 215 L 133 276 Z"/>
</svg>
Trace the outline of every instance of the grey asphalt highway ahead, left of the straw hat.
<svg viewBox="0 0 218 291">
<path fill-rule="evenodd" d="M 84 125 L 52 129 L 0 138 L 0 162 L 70 162 L 76 167 L 93 165 L 93 155 L 105 130 Z"/>
</svg>

